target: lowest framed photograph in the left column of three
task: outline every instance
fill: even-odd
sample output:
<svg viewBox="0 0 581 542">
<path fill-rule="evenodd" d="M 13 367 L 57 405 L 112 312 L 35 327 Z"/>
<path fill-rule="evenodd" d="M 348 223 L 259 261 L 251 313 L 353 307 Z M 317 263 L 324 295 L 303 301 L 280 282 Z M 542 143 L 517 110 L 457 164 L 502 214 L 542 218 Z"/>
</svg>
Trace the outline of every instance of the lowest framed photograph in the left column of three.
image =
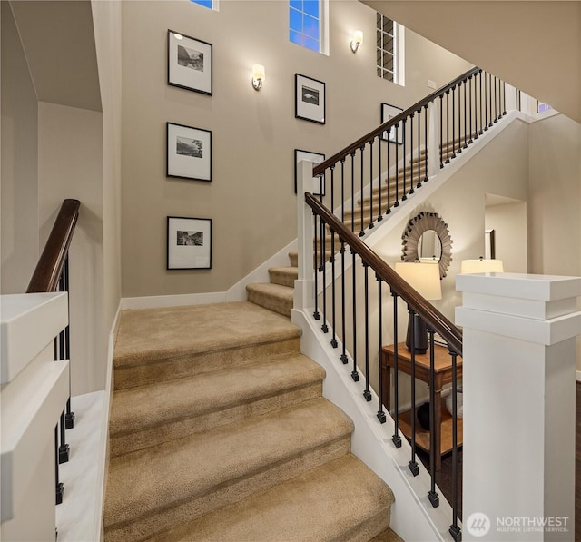
<svg viewBox="0 0 581 542">
<path fill-rule="evenodd" d="M 167 269 L 212 269 L 212 219 L 167 217 Z"/>
</svg>

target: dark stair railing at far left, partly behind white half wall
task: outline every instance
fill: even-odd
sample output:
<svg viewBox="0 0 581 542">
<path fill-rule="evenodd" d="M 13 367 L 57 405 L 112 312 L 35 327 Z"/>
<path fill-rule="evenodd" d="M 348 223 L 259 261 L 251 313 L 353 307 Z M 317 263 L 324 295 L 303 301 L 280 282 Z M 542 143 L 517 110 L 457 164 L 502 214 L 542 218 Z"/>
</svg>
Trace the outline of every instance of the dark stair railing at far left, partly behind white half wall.
<svg viewBox="0 0 581 542">
<path fill-rule="evenodd" d="M 54 221 L 44 251 L 41 254 L 26 293 L 47 291 L 69 291 L 69 247 L 73 241 L 74 228 L 79 217 L 78 200 L 67 199 Z M 70 360 L 70 330 L 67 325 L 54 338 L 54 360 Z M 63 502 L 64 484 L 59 480 L 59 464 L 69 460 L 69 445 L 66 444 L 65 429 L 74 427 L 74 412 L 71 409 L 71 365 L 69 363 L 69 398 L 60 421 L 54 428 L 56 504 Z"/>
</svg>

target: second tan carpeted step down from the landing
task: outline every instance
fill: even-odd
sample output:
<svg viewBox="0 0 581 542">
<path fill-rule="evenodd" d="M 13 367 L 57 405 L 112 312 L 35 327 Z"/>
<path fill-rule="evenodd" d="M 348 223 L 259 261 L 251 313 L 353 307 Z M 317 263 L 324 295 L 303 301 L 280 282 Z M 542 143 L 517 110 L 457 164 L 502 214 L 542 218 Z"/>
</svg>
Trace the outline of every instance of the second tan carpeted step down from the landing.
<svg viewBox="0 0 581 542">
<path fill-rule="evenodd" d="M 326 399 L 113 458 L 108 542 L 153 537 L 350 450 L 353 424 Z"/>
</svg>

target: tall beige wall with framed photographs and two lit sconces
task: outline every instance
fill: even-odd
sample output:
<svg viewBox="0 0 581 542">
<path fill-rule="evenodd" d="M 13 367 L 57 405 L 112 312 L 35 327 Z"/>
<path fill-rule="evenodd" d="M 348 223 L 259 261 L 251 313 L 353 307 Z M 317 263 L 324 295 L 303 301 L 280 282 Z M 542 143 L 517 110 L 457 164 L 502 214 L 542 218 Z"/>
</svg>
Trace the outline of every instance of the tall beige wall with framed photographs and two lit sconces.
<svg viewBox="0 0 581 542">
<path fill-rule="evenodd" d="M 406 88 L 375 74 L 375 12 L 330 3 L 330 55 L 288 40 L 284 2 L 123 3 L 123 297 L 226 291 L 296 238 L 294 149 L 336 153 L 469 64 L 406 32 Z M 169 86 L 168 28 L 213 44 L 213 96 Z M 361 28 L 358 54 L 350 33 Z M 260 93 L 251 64 L 264 64 Z M 294 118 L 294 74 L 326 83 L 327 123 Z M 165 177 L 165 123 L 212 131 L 212 182 Z M 260 210 L 260 211 L 259 211 Z M 212 219 L 212 270 L 166 271 L 166 216 Z"/>
</svg>

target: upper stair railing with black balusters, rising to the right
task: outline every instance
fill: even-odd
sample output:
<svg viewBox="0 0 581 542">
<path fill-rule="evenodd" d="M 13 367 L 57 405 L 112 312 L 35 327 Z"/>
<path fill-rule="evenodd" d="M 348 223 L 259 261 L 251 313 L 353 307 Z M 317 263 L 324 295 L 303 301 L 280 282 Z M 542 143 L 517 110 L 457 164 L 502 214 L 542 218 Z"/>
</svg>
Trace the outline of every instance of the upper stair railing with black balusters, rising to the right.
<svg viewBox="0 0 581 542">
<path fill-rule="evenodd" d="M 459 75 L 315 166 L 321 201 L 363 236 L 507 113 L 506 88 L 478 67 Z"/>
</svg>

